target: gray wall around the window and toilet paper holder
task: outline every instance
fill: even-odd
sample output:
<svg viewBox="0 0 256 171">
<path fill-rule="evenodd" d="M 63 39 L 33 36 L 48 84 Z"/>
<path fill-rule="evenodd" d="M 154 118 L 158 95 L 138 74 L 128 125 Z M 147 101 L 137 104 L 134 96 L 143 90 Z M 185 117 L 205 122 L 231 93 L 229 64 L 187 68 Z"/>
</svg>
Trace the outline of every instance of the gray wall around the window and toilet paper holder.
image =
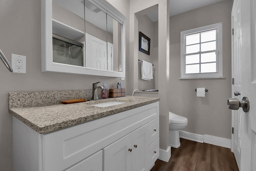
<svg viewBox="0 0 256 171">
<path fill-rule="evenodd" d="M 170 111 L 188 118 L 184 131 L 231 139 L 231 9 L 232 0 L 170 17 Z M 222 22 L 224 79 L 180 78 L 180 32 Z M 206 87 L 206 97 L 196 97 Z"/>
</svg>

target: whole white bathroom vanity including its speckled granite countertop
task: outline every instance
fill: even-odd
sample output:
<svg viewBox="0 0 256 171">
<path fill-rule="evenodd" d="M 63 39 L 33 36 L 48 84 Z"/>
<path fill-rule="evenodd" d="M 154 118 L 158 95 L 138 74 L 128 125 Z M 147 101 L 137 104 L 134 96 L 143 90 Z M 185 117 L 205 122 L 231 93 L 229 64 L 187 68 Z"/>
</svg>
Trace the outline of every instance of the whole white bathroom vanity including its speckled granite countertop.
<svg viewBox="0 0 256 171">
<path fill-rule="evenodd" d="M 11 102 L 14 171 L 150 170 L 159 157 L 158 101 L 126 96 L 32 107 Z M 99 107 L 112 102 L 122 103 Z"/>
</svg>

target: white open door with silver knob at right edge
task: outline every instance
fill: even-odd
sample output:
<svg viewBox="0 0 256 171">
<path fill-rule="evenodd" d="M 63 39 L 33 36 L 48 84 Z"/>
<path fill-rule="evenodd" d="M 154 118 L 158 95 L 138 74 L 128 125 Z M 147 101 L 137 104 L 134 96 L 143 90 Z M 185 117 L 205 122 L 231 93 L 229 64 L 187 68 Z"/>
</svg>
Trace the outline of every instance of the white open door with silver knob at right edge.
<svg viewBox="0 0 256 171">
<path fill-rule="evenodd" d="M 232 151 L 240 171 L 256 171 L 256 0 L 234 0 L 232 20 L 233 78 L 232 91 L 250 101 L 250 110 L 232 111 Z M 237 30 L 235 30 L 237 29 Z M 239 142 L 241 141 L 241 143 Z"/>
</svg>

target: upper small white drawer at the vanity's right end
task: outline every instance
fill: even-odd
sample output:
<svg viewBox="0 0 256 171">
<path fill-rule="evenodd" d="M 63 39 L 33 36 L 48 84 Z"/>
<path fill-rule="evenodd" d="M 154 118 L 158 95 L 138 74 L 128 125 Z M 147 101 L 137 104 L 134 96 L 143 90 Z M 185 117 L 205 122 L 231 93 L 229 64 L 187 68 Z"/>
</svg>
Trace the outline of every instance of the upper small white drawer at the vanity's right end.
<svg viewBox="0 0 256 171">
<path fill-rule="evenodd" d="M 148 125 L 149 125 L 148 145 L 150 145 L 156 140 L 157 137 L 159 137 L 159 117 L 150 121 Z"/>
</svg>

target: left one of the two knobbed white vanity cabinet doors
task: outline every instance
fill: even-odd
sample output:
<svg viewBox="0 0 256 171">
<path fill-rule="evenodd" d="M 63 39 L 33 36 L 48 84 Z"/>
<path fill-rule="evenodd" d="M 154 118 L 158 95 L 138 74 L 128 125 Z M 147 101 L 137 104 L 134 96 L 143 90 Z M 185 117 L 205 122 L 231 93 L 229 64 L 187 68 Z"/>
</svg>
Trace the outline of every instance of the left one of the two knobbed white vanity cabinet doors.
<svg viewBox="0 0 256 171">
<path fill-rule="evenodd" d="M 132 133 L 103 149 L 104 171 L 132 171 Z"/>
</svg>

